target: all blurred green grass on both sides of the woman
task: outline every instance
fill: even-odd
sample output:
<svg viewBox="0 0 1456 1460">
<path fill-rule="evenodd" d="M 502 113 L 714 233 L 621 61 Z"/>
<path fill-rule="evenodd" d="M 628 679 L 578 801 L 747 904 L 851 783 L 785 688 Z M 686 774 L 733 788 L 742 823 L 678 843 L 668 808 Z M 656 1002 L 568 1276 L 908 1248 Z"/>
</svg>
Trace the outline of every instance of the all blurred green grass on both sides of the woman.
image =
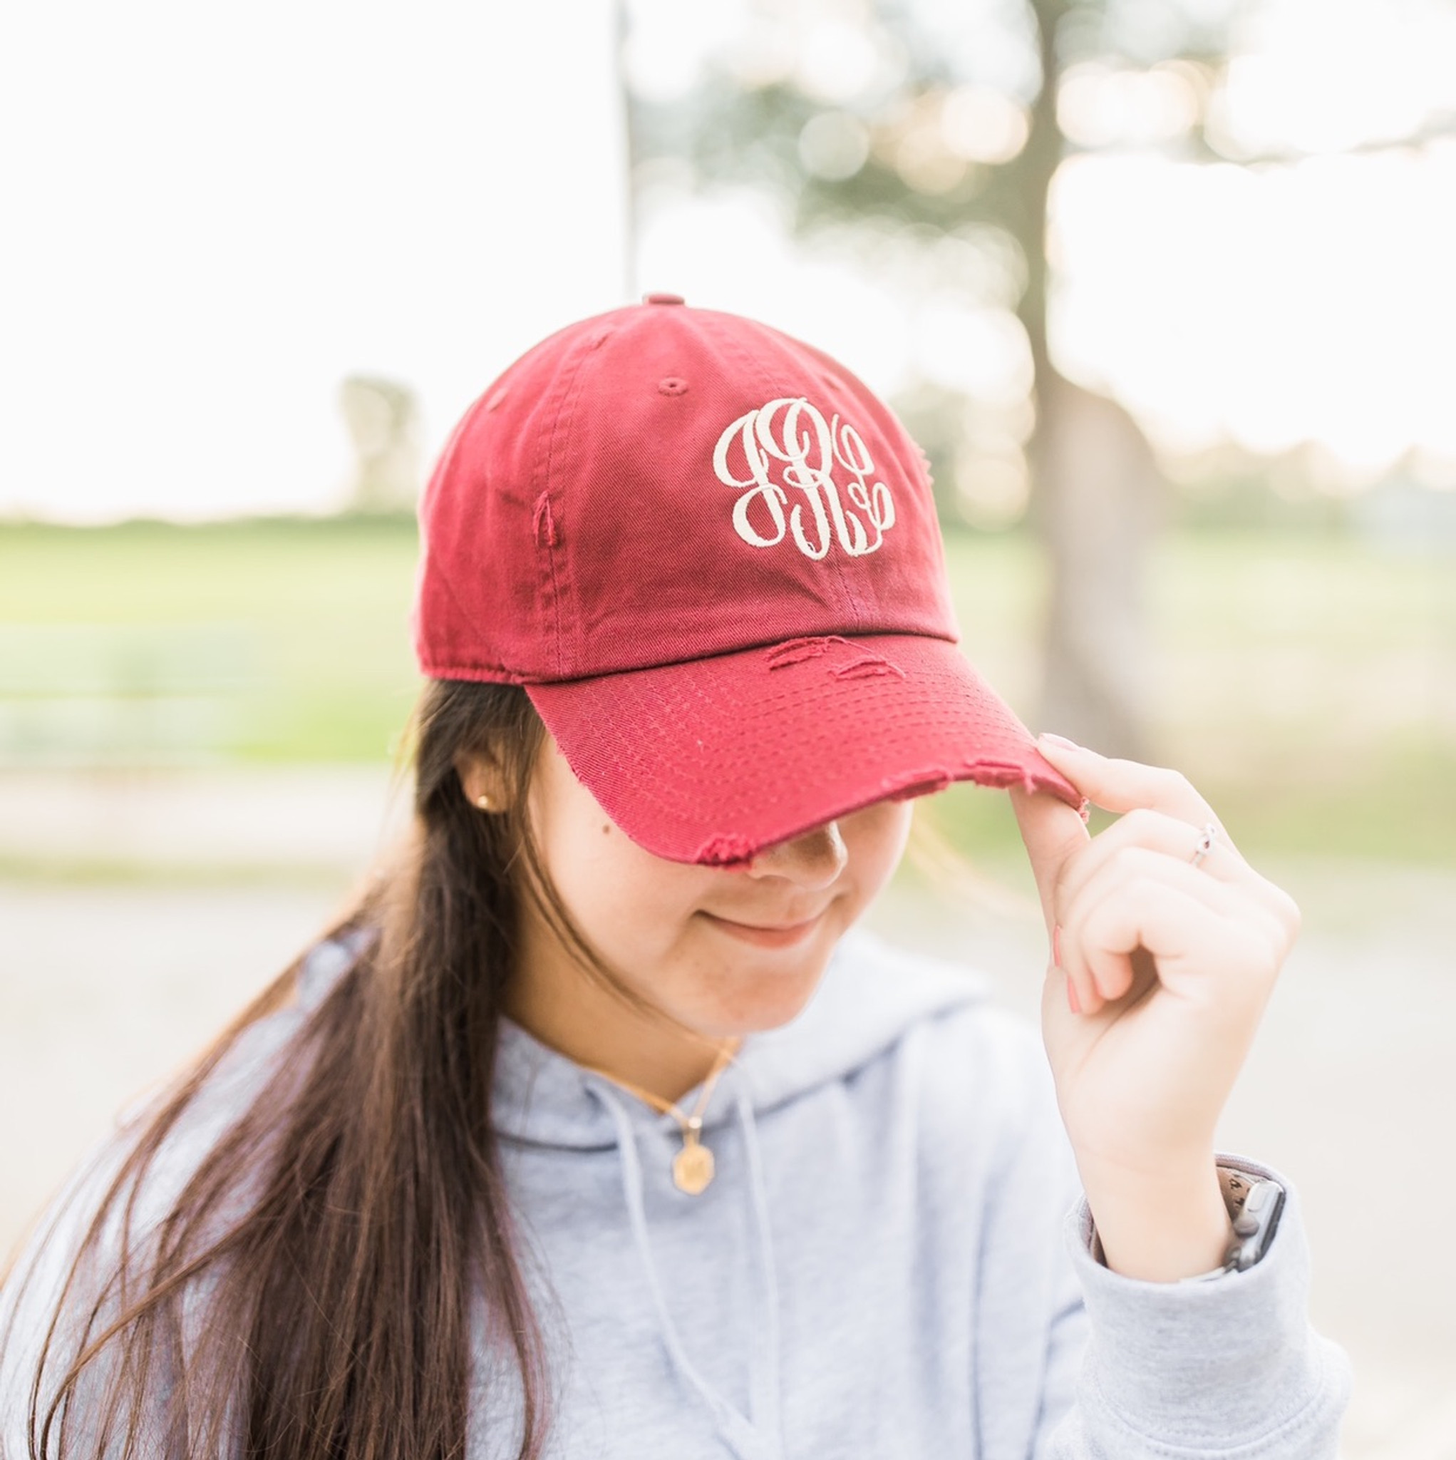
<svg viewBox="0 0 1456 1460">
<path fill-rule="evenodd" d="M 388 759 L 414 555 L 403 517 L 0 524 L 0 765 Z M 967 653 L 1036 726 L 1034 543 L 948 558 Z M 1456 863 L 1456 550 L 1170 534 L 1150 610 L 1157 755 L 1247 851 Z M 1005 797 L 935 821 L 1015 850 Z"/>
</svg>

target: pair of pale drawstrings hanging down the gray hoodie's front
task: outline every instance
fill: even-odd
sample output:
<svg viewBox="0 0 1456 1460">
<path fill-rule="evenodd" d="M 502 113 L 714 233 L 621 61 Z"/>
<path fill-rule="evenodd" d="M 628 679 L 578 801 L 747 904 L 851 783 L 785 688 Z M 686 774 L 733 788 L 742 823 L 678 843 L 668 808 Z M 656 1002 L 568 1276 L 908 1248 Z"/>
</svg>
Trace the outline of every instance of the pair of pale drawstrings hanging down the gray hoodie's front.
<svg viewBox="0 0 1456 1460">
<path fill-rule="evenodd" d="M 762 1273 L 762 1294 L 764 1304 L 764 1324 L 762 1345 L 748 1345 L 751 1353 L 750 1405 L 754 1422 L 750 1424 L 738 1410 L 728 1403 L 697 1371 L 687 1353 L 683 1350 L 677 1326 L 667 1311 L 667 1299 L 662 1295 L 662 1283 L 658 1279 L 657 1263 L 652 1260 L 652 1247 L 648 1237 L 646 1207 L 642 1199 L 642 1161 L 638 1155 L 636 1132 L 632 1117 L 621 1101 L 603 1085 L 595 1082 L 586 1086 L 597 1099 L 607 1108 L 613 1124 L 617 1129 L 617 1150 L 621 1155 L 621 1193 L 627 1203 L 627 1219 L 632 1225 L 632 1238 L 636 1242 L 638 1256 L 642 1259 L 642 1269 L 648 1280 L 648 1291 L 652 1294 L 652 1307 L 657 1311 L 658 1327 L 662 1334 L 662 1345 L 673 1361 L 678 1375 L 687 1381 L 708 1406 L 718 1424 L 718 1431 L 732 1447 L 740 1460 L 775 1460 L 782 1454 L 779 1435 L 779 1313 L 778 1313 L 778 1280 L 773 1270 L 773 1248 L 769 1240 L 769 1207 L 767 1193 L 763 1184 L 763 1161 L 759 1152 L 757 1132 L 754 1130 L 753 1107 L 747 1095 L 740 1091 L 737 1098 L 738 1120 L 744 1130 L 744 1146 L 748 1153 L 748 1186 L 751 1191 L 753 1219 L 759 1237 L 759 1267 Z"/>
</svg>

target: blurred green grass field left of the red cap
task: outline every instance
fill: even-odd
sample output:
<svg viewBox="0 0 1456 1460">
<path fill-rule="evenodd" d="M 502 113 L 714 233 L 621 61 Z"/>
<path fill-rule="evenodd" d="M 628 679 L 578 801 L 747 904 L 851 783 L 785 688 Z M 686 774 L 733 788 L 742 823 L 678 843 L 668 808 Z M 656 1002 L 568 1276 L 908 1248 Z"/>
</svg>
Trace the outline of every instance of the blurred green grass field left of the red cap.
<svg viewBox="0 0 1456 1460">
<path fill-rule="evenodd" d="M 403 517 L 3 526 L 0 756 L 385 759 L 414 553 Z"/>
</svg>

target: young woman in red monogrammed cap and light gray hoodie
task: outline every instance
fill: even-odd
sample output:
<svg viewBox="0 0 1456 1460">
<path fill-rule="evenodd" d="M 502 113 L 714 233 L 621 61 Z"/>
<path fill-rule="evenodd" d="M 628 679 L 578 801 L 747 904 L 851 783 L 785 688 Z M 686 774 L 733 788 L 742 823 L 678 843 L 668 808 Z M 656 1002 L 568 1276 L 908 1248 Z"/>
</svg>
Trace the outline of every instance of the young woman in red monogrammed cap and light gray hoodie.
<svg viewBox="0 0 1456 1460">
<path fill-rule="evenodd" d="M 486 391 L 422 529 L 413 840 L 42 1223 L 6 1454 L 1333 1456 L 1294 1196 L 1212 1145 L 1297 912 L 977 679 L 888 410 L 654 295 Z M 1045 1053 L 852 933 L 966 778 Z"/>
</svg>

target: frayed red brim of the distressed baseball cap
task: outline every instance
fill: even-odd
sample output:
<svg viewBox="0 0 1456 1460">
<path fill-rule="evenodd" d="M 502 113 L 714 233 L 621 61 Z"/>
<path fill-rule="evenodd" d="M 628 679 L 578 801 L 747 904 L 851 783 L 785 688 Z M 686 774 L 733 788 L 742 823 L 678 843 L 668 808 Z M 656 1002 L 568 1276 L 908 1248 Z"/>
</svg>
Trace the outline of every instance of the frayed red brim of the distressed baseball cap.
<svg viewBox="0 0 1456 1460">
<path fill-rule="evenodd" d="M 1083 804 L 945 639 L 791 639 L 527 688 L 603 810 L 671 861 L 743 863 L 874 802 L 953 781 Z"/>
</svg>

